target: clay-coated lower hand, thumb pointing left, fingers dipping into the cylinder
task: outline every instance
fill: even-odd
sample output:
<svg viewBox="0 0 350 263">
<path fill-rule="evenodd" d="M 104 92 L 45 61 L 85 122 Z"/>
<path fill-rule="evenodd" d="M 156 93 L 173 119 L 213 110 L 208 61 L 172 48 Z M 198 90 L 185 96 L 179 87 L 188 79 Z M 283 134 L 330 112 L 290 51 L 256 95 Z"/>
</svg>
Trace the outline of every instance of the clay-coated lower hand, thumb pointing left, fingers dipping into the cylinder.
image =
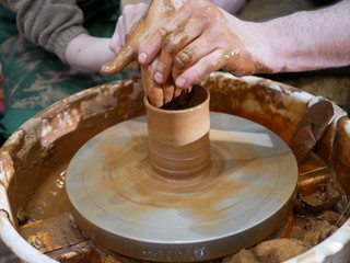
<svg viewBox="0 0 350 263">
<path fill-rule="evenodd" d="M 183 0 L 153 0 L 149 7 L 148 14 L 141 19 L 131 34 L 128 35 L 126 44 L 117 55 L 101 69 L 104 75 L 114 75 L 121 71 L 132 60 L 137 60 L 140 44 L 167 21 L 168 16 L 183 4 Z M 160 107 L 174 98 L 179 96 L 180 89 L 175 89 L 172 79 L 165 80 L 162 84 L 154 81 L 154 67 L 156 56 L 148 65 L 141 67 L 145 93 L 153 106 Z"/>
</svg>

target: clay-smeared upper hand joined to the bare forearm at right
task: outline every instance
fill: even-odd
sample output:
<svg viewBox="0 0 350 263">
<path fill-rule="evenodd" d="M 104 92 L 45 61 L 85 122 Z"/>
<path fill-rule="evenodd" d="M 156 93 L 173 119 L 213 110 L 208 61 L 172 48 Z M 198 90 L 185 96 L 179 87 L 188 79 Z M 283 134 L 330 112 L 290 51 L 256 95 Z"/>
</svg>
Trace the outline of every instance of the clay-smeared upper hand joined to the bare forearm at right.
<svg viewBox="0 0 350 263">
<path fill-rule="evenodd" d="M 154 80 L 163 84 L 172 76 L 177 88 L 186 88 L 221 68 L 236 76 L 269 72 L 259 48 L 264 42 L 259 24 L 241 21 L 208 0 L 188 0 L 141 39 L 138 59 L 148 65 L 160 56 Z"/>
</svg>

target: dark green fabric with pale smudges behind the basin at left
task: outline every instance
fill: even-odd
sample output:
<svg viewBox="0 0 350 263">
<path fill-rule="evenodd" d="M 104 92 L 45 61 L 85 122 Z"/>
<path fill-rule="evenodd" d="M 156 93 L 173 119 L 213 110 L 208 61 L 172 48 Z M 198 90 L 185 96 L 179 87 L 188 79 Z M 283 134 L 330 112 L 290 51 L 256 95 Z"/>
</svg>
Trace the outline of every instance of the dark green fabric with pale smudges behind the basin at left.
<svg viewBox="0 0 350 263">
<path fill-rule="evenodd" d="M 94 36 L 112 36 L 118 20 L 119 0 L 89 1 L 81 7 L 84 26 Z M 85 88 L 128 78 L 100 73 L 77 75 L 56 55 L 19 35 L 15 14 L 0 4 L 0 62 L 4 75 L 5 110 L 0 133 L 10 136 L 26 119 L 50 104 Z"/>
</svg>

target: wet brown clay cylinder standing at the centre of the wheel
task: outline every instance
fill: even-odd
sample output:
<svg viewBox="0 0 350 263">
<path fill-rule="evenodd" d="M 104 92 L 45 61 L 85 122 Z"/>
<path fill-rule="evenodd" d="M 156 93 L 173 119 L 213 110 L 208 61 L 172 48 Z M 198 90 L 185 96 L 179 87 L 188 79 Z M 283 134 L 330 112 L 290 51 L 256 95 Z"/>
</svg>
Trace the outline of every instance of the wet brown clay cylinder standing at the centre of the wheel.
<svg viewBox="0 0 350 263">
<path fill-rule="evenodd" d="M 172 180 L 190 179 L 210 167 L 209 92 L 192 87 L 183 110 L 163 110 L 144 99 L 149 159 L 154 172 Z"/>
</svg>

